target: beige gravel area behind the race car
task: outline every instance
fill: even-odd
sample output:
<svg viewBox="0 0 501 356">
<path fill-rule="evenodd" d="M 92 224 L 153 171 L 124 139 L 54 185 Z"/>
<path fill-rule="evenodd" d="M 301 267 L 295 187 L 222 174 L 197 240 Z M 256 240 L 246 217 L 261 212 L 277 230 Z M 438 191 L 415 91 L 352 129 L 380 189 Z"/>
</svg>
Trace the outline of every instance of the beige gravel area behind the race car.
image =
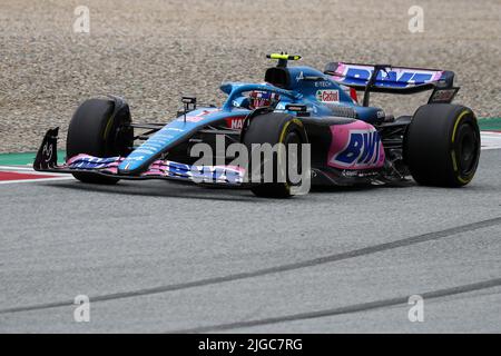
<svg viewBox="0 0 501 356">
<path fill-rule="evenodd" d="M 274 51 L 321 70 L 336 60 L 453 70 L 455 101 L 500 117 L 500 14 L 499 0 L 2 0 L 0 151 L 36 150 L 56 126 L 63 145 L 73 110 L 99 95 L 125 97 L 139 122 L 170 119 L 184 93 L 219 103 L 220 82 L 262 81 Z M 372 96 L 395 115 L 426 98 Z"/>
</svg>

